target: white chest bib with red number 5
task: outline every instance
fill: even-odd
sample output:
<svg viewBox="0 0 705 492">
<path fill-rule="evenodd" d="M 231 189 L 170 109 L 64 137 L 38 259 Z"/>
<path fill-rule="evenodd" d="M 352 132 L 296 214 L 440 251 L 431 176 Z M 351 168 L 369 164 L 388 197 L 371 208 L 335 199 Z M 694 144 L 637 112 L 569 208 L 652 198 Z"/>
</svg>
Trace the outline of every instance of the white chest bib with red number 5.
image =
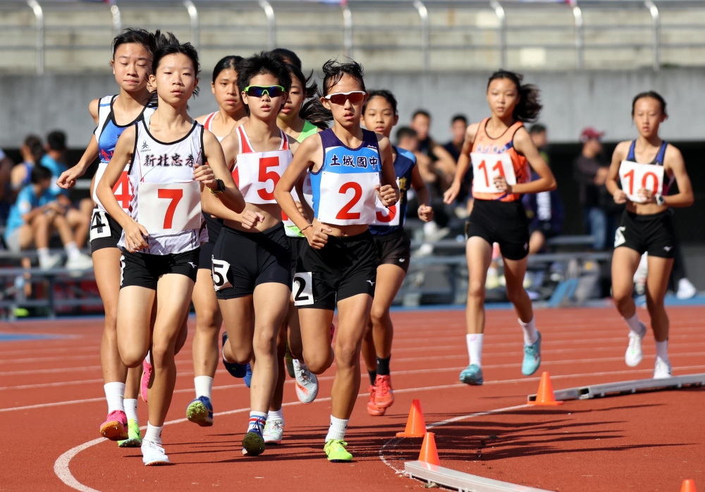
<svg viewBox="0 0 705 492">
<path fill-rule="evenodd" d="M 252 204 L 276 203 L 274 187 L 291 164 L 290 150 L 252 152 L 238 155 L 235 166 L 238 187 L 245 202 Z M 233 176 L 235 176 L 233 170 Z"/>
</svg>

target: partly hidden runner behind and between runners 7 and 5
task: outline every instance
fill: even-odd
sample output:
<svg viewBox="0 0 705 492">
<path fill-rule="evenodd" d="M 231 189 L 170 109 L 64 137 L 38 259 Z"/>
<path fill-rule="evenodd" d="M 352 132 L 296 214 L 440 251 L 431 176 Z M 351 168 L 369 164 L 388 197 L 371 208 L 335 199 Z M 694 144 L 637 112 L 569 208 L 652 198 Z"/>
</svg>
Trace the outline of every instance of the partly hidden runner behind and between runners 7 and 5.
<svg viewBox="0 0 705 492">
<path fill-rule="evenodd" d="M 238 72 L 235 68 L 242 56 L 226 56 L 213 69 L 211 91 L 216 97 L 218 111 L 196 118 L 206 130 L 222 141 L 233 128 L 247 121 L 247 110 L 238 90 Z M 213 289 L 211 260 L 213 246 L 220 235 L 223 221 L 211 214 L 203 214 L 208 227 L 208 242 L 201 245 L 196 285 L 193 287 L 193 307 L 196 311 L 196 333 L 193 336 L 193 386 L 196 398 L 186 407 L 186 418 L 200 426 L 213 425 L 211 392 L 213 377 L 218 367 L 218 336 L 223 324 L 218 299 Z"/>
</svg>

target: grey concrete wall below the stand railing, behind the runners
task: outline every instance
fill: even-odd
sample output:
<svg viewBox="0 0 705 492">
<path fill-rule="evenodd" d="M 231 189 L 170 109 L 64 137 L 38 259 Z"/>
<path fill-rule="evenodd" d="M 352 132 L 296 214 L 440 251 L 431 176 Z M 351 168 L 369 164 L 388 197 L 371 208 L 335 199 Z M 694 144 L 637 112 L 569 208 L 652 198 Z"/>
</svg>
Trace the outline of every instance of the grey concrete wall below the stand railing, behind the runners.
<svg viewBox="0 0 705 492">
<path fill-rule="evenodd" d="M 455 113 L 465 113 L 471 121 L 489 116 L 484 99 L 487 75 L 369 73 L 366 82 L 369 88 L 393 90 L 402 124 L 415 109 L 429 110 L 434 116 L 431 134 L 443 141 Z M 194 116 L 216 109 L 205 77 L 202 94 L 190 104 Z M 541 89 L 541 122 L 548 125 L 553 142 L 575 142 L 587 125 L 605 131 L 606 140 L 635 137 L 631 101 L 644 90 L 661 92 L 668 102 L 670 118 L 663 125 L 663 137 L 703 140 L 705 69 L 527 73 L 525 80 Z M 94 127 L 88 103 L 117 90 L 112 75 L 2 75 L 0 146 L 19 147 L 28 133 L 46 135 L 61 128 L 71 147 L 82 147 Z"/>
</svg>

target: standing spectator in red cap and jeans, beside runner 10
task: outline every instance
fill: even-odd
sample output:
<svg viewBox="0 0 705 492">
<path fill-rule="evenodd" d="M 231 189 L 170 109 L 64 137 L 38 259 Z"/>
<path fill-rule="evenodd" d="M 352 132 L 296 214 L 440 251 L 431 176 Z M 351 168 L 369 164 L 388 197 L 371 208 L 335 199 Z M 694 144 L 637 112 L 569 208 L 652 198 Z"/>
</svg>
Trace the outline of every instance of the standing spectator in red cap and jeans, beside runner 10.
<svg viewBox="0 0 705 492">
<path fill-rule="evenodd" d="M 593 250 L 604 250 L 608 237 L 606 207 L 611 197 L 605 187 L 608 162 L 602 155 L 603 135 L 591 127 L 582 130 L 582 152 L 573 163 L 573 178 L 580 187 L 583 223 L 587 233 L 594 237 Z"/>
</svg>

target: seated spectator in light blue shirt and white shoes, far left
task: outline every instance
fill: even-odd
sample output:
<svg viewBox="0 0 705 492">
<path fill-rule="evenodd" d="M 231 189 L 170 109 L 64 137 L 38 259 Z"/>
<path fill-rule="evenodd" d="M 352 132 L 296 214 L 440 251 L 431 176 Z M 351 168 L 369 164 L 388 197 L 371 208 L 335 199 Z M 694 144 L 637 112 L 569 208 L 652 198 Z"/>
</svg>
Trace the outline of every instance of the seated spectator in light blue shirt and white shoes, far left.
<svg viewBox="0 0 705 492">
<path fill-rule="evenodd" d="M 74 240 L 74 230 L 87 229 L 78 210 L 66 210 L 49 191 L 53 177 L 44 166 L 32 168 L 30 183 L 20 190 L 17 202 L 10 210 L 5 244 L 13 252 L 27 250 L 32 245 L 37 247 L 39 267 L 51 269 L 61 263 L 61 256 L 49 253 L 49 237 L 56 228 L 68 255 L 66 268 L 83 270 L 93 266 L 91 258 L 82 254 Z M 84 235 L 86 231 L 82 232 Z"/>
</svg>

